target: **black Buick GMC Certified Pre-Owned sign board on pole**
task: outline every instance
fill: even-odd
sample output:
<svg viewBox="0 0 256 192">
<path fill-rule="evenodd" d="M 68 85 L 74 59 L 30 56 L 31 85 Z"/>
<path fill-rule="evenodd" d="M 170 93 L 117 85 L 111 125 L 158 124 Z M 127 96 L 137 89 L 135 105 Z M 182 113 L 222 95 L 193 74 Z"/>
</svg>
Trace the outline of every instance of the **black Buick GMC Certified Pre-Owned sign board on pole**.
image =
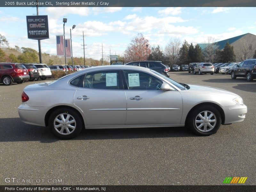
<svg viewBox="0 0 256 192">
<path fill-rule="evenodd" d="M 47 15 L 27 16 L 27 28 L 29 39 L 49 39 Z"/>
</svg>

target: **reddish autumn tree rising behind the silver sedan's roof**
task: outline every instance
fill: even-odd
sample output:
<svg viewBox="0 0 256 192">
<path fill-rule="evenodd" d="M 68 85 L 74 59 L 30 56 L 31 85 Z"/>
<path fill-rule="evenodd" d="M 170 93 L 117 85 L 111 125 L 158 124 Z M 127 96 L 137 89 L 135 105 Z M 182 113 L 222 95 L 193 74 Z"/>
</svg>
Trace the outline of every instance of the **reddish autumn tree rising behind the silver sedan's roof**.
<svg viewBox="0 0 256 192">
<path fill-rule="evenodd" d="M 138 33 L 124 51 L 124 58 L 126 62 L 145 61 L 148 60 L 147 55 L 149 56 L 150 52 L 151 48 L 148 44 L 148 39 L 146 39 L 141 33 Z"/>
</svg>

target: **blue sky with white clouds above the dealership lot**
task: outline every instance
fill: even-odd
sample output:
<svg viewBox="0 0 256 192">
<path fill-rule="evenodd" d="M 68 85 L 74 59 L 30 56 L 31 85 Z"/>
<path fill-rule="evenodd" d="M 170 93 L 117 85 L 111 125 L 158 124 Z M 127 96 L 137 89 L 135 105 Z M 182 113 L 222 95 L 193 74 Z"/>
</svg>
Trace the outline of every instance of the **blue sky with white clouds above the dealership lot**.
<svg viewBox="0 0 256 192">
<path fill-rule="evenodd" d="M 41 41 L 42 52 L 56 55 L 56 35 L 66 38 L 72 31 L 73 56 L 100 59 L 101 44 L 105 57 L 123 55 L 134 36 L 142 33 L 150 46 L 159 45 L 164 51 L 172 38 L 188 43 L 207 43 L 245 33 L 256 35 L 255 7 L 39 7 L 40 15 L 48 15 L 50 38 Z M 36 40 L 28 39 L 26 15 L 36 14 L 35 7 L 0 7 L 0 34 L 10 47 L 30 47 L 38 51 Z M 2 47 L 2 45 L 1 45 Z"/>
</svg>

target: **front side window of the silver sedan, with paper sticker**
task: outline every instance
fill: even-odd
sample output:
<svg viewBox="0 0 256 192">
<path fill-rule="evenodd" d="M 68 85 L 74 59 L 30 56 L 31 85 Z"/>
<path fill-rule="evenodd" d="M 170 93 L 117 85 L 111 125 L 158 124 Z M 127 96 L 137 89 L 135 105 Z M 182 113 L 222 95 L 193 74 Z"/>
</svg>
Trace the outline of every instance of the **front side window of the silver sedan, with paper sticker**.
<svg viewBox="0 0 256 192">
<path fill-rule="evenodd" d="M 163 81 L 140 71 L 124 71 L 129 90 L 159 90 Z"/>
</svg>

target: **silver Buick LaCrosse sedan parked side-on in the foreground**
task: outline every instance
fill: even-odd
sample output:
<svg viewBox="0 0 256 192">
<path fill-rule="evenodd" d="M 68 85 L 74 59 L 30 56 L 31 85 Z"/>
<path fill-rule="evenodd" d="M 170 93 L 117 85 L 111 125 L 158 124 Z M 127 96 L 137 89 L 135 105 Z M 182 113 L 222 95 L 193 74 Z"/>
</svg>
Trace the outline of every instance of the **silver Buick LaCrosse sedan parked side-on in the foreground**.
<svg viewBox="0 0 256 192">
<path fill-rule="evenodd" d="M 18 111 L 24 123 L 49 126 L 60 139 L 82 128 L 182 127 L 198 135 L 220 124 L 241 122 L 243 99 L 222 89 L 177 83 L 143 67 L 86 68 L 22 92 Z"/>
</svg>

